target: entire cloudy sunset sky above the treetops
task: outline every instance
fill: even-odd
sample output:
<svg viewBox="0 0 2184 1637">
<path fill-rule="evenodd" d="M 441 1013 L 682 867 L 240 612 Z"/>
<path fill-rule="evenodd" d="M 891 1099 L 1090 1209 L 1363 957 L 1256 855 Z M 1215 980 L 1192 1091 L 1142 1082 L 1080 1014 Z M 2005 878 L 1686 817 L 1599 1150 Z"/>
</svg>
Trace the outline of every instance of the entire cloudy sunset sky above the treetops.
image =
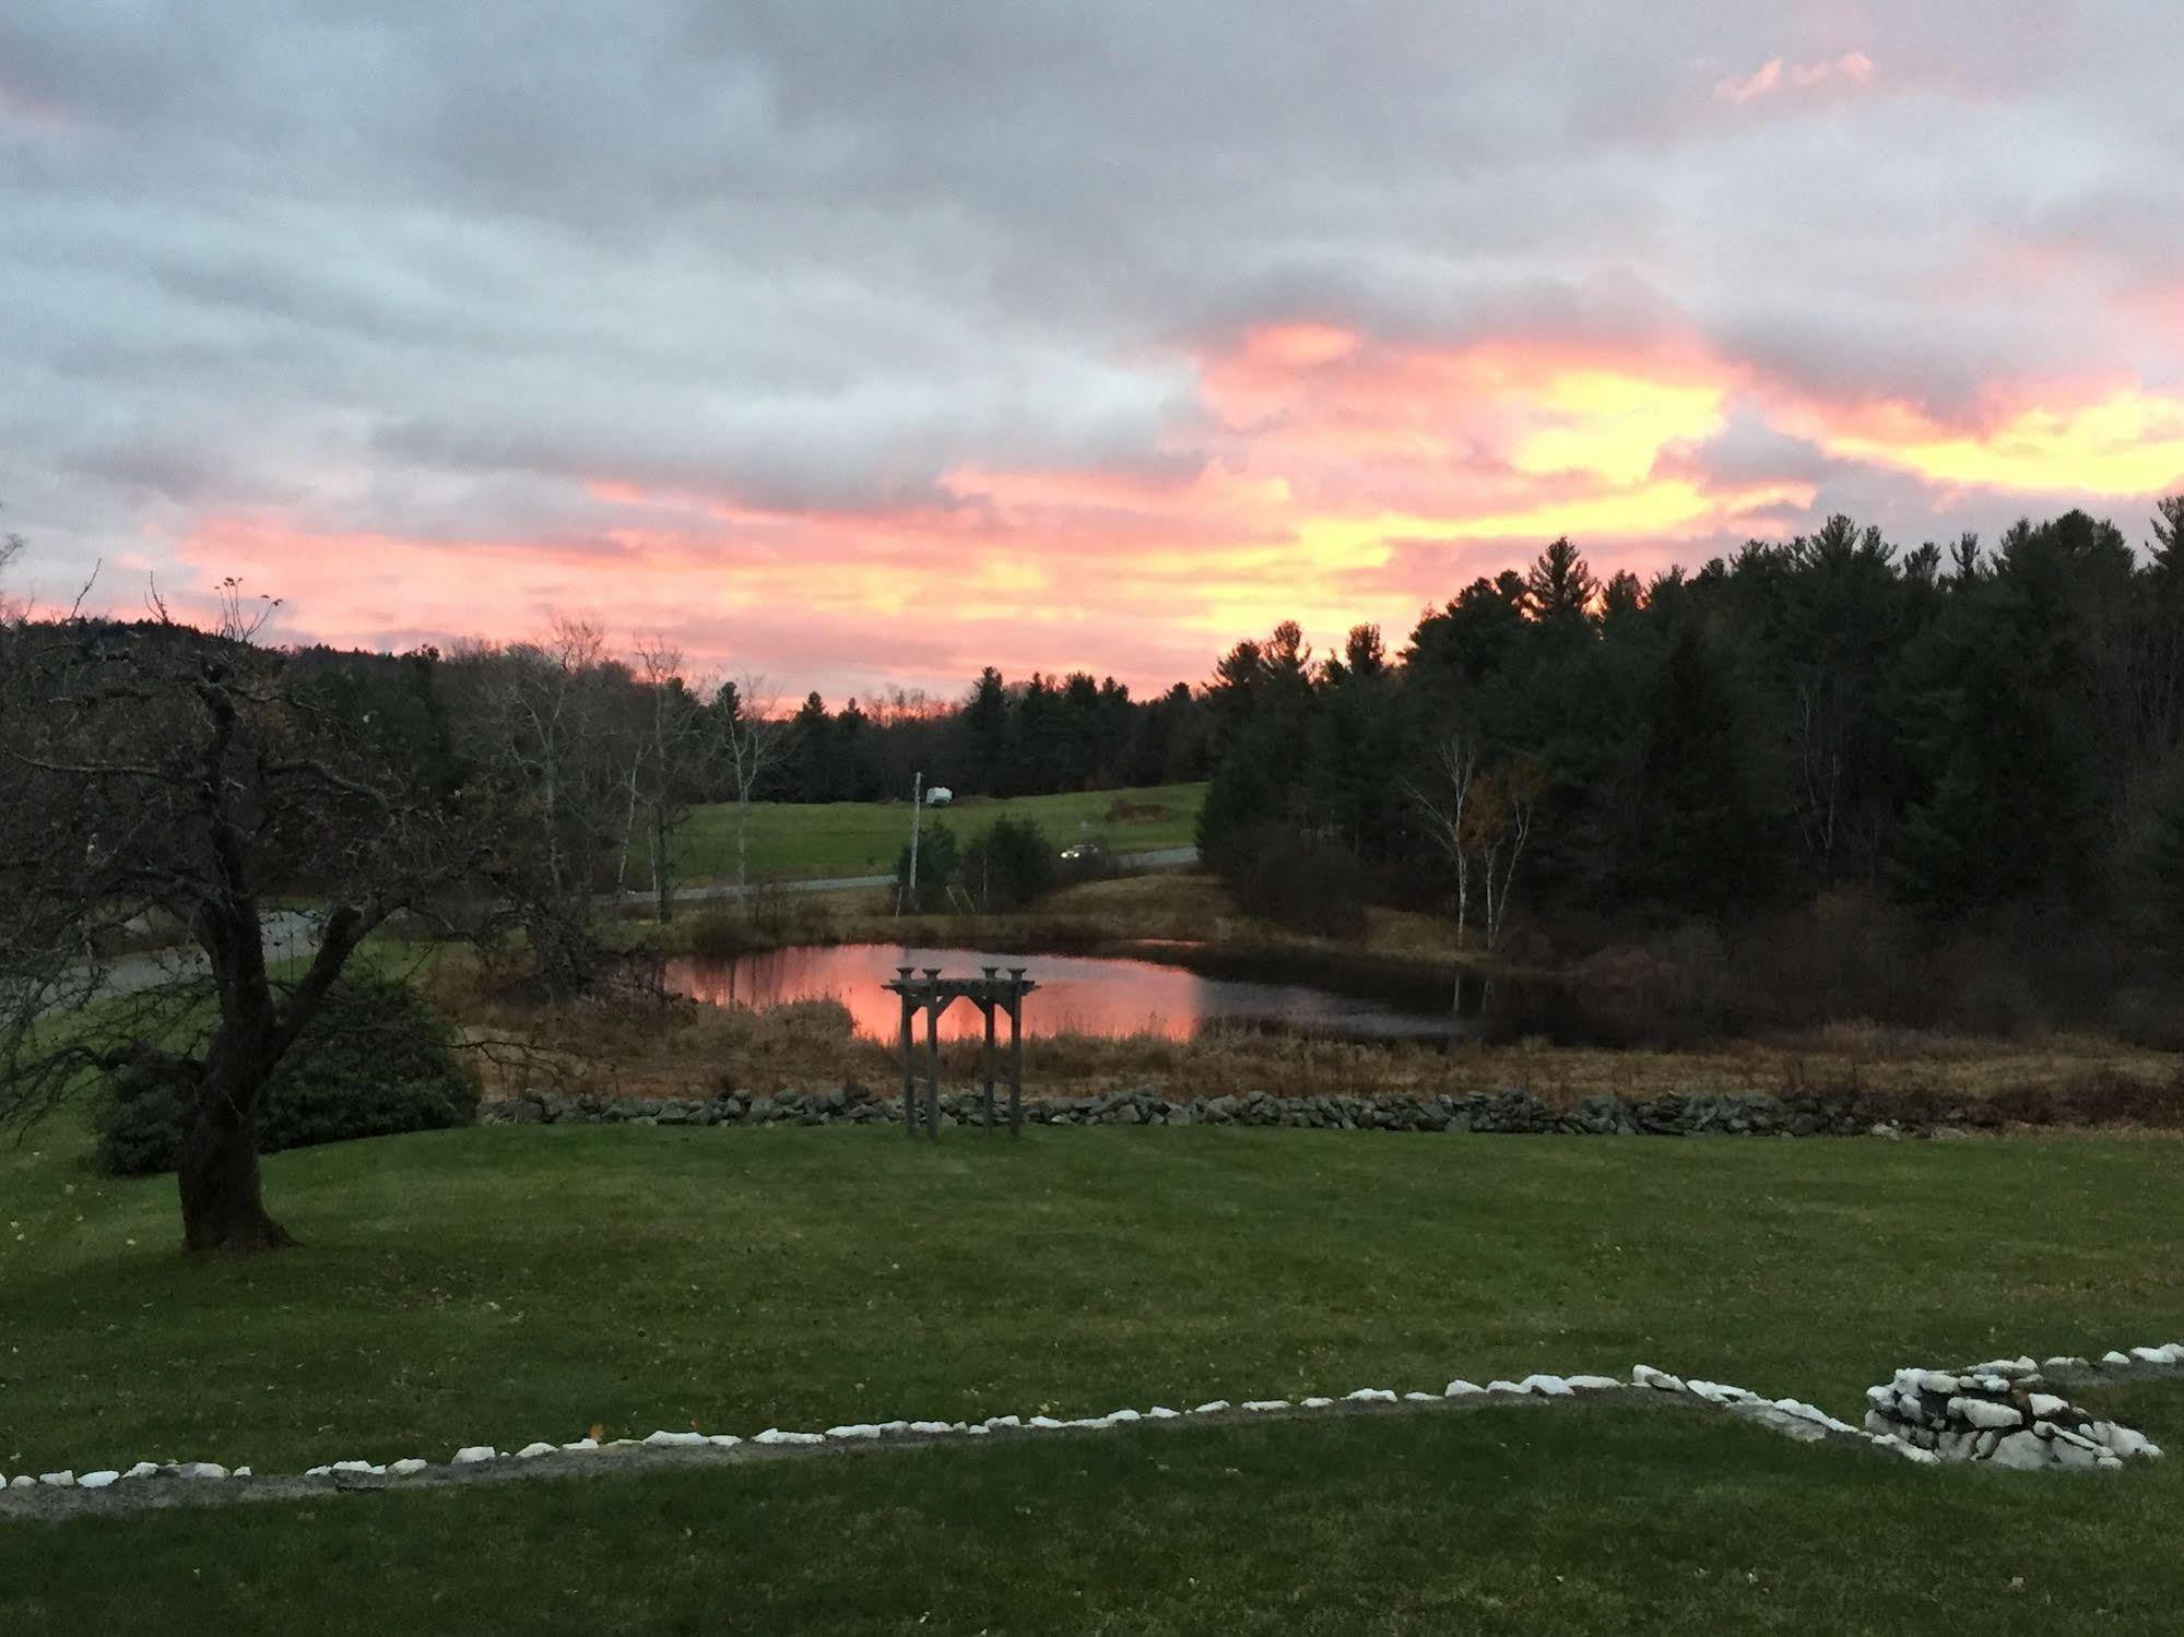
<svg viewBox="0 0 2184 1637">
<path fill-rule="evenodd" d="M 7 0 L 15 592 L 830 696 L 2184 489 L 2173 0 Z"/>
</svg>

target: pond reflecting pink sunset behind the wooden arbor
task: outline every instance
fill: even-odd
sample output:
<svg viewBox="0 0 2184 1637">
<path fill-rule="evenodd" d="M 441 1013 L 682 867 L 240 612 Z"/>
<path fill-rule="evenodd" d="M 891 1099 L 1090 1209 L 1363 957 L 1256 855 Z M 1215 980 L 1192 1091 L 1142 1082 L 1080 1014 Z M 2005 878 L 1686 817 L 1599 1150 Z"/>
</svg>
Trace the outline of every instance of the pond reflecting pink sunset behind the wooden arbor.
<svg viewBox="0 0 2184 1637">
<path fill-rule="evenodd" d="M 1162 1035 L 1188 1041 L 1208 1028 L 1267 1028 L 1337 1039 L 1446 1041 L 1446 1011 L 1341 995 L 1295 982 L 1206 976 L 1160 960 L 1109 956 L 1026 956 L 987 949 L 924 949 L 893 943 L 839 943 L 668 963 L 668 987 L 714 1004 L 773 1006 L 784 1000 L 839 1000 L 869 1039 L 893 1041 L 902 1004 L 880 984 L 898 967 L 939 967 L 974 978 L 981 967 L 1022 967 L 1040 984 L 1024 1002 L 1024 1035 Z M 941 1017 L 941 1039 L 976 1039 L 978 1008 L 968 1002 Z M 1007 1026 L 1002 1026 L 1007 1028 Z"/>
</svg>

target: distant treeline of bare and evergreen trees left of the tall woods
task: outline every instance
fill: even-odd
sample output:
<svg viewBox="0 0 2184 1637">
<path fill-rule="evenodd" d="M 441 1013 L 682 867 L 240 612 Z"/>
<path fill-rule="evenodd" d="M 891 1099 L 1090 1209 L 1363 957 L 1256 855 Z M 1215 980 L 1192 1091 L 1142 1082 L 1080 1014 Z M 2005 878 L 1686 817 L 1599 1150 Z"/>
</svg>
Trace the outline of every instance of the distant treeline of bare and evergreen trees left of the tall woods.
<svg viewBox="0 0 2184 1637">
<path fill-rule="evenodd" d="M 909 799 L 917 775 L 957 794 L 1046 794 L 1203 777 L 1210 766 L 1206 707 L 1184 685 L 1136 701 L 1114 679 L 1035 672 L 1009 683 L 987 668 L 959 701 L 889 690 L 832 712 L 810 694 L 791 714 L 762 683 L 699 677 L 670 646 L 616 655 L 583 620 L 557 618 L 531 642 L 406 655 L 275 648 L 260 640 L 273 605 L 245 600 L 236 583 L 221 596 L 207 631 L 9 611 L 11 690 L 35 709 L 90 666 L 100 677 L 155 670 L 162 690 L 186 694 L 192 666 L 216 661 L 314 720 L 369 731 L 417 788 L 489 790 L 500 891 L 557 989 L 581 989 L 598 965 L 594 895 L 646 891 L 666 917 L 675 838 L 701 803 L 734 803 L 745 880 L 753 801 Z"/>
</svg>

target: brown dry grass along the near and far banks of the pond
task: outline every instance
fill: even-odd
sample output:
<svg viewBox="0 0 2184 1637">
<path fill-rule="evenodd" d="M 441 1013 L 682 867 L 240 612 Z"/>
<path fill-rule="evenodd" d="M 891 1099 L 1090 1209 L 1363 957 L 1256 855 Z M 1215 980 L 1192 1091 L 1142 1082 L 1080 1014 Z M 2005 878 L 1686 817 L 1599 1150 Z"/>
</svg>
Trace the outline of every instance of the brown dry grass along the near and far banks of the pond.
<svg viewBox="0 0 2184 1637">
<path fill-rule="evenodd" d="M 1203 873 L 1158 873 L 1072 886 L 1026 915 L 893 917 L 889 893 L 782 895 L 734 910 L 686 912 L 666 928 L 631 923 L 631 941 L 690 949 L 786 943 L 919 943 L 1022 952 L 1160 956 L 1162 945 L 1201 945 L 1223 956 L 1321 963 L 1328 971 L 1376 967 L 1420 982 L 1450 973 L 1448 925 L 1428 915 L 1372 910 L 1361 941 L 1313 939 L 1243 917 Z M 714 954 L 727 954 L 716 947 Z M 1173 954 L 1173 949 L 1171 949 Z M 716 1008 L 695 1002 L 596 1002 L 563 1011 L 520 1006 L 487 991 L 467 963 L 432 976 L 435 1000 L 491 1045 L 494 1091 L 522 1085 L 590 1087 L 622 1096 L 775 1091 L 900 1076 L 891 1045 L 852 1035 L 834 1006 Z M 943 1078 L 968 1085 L 976 1048 L 943 1048 Z M 1354 1043 L 1258 1030 L 1208 1030 L 1192 1041 L 1155 1035 L 1033 1039 L 1024 1052 L 1031 1096 L 1149 1087 L 1164 1096 L 1498 1091 L 1518 1087 L 1566 1107 L 1586 1096 L 1649 1098 L 1671 1091 L 1883 1094 L 2042 1100 L 2103 1107 L 2118 1094 L 2175 1089 L 2184 1102 L 2184 1054 L 2088 1035 L 1974 1037 L 1867 1021 L 1697 1045 L 1688 1050 L 1579 1048 L 1546 1041 Z"/>
</svg>

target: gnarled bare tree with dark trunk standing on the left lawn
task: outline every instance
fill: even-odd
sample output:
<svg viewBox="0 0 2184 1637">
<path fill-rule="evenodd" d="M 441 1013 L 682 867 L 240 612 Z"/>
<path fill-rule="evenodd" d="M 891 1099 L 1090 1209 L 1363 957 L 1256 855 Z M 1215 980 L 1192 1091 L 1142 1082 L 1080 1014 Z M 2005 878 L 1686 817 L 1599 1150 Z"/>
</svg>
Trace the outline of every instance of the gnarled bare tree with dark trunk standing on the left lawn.
<svg viewBox="0 0 2184 1637">
<path fill-rule="evenodd" d="M 258 1115 L 363 939 L 478 862 L 448 757 L 345 712 L 288 657 L 175 622 L 17 626 L 0 644 L 0 1120 L 131 1063 L 186 1087 L 192 1251 L 290 1244 L 260 1196 Z M 419 688 L 430 688 L 424 679 Z M 299 976 L 266 960 L 275 895 L 319 906 Z M 149 917 L 194 958 L 122 967 Z"/>
</svg>

